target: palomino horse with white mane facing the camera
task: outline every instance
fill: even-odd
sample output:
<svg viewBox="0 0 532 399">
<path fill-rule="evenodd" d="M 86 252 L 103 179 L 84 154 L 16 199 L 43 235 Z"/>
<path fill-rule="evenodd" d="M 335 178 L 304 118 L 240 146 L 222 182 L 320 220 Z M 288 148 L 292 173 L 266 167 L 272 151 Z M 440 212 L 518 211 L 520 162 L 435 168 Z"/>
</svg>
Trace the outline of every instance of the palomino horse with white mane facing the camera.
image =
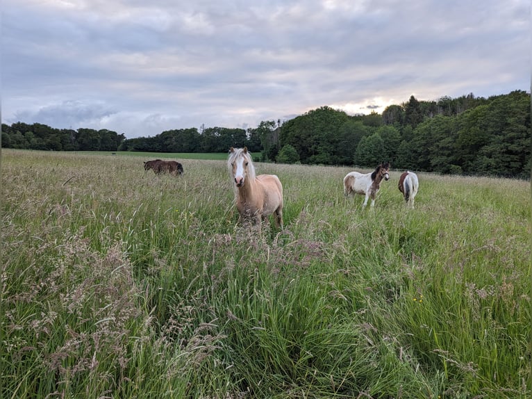
<svg viewBox="0 0 532 399">
<path fill-rule="evenodd" d="M 275 174 L 255 175 L 247 147 L 229 150 L 229 175 L 235 186 L 235 202 L 240 220 L 260 222 L 274 213 L 276 227 L 283 228 L 283 186 Z"/>
</svg>

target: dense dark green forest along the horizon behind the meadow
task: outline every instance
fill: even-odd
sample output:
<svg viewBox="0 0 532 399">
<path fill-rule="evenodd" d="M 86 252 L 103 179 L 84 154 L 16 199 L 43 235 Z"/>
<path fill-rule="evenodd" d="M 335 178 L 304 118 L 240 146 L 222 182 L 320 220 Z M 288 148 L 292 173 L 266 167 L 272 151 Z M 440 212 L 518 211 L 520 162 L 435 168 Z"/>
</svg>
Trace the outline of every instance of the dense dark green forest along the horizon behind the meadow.
<svg viewBox="0 0 532 399">
<path fill-rule="evenodd" d="M 209 127 L 126 138 L 106 129 L 53 129 L 2 124 L 1 146 L 55 151 L 226 152 L 249 148 L 256 161 L 392 168 L 451 174 L 529 178 L 531 97 L 522 90 L 485 99 L 419 101 L 385 108 L 382 115 L 347 115 L 324 106 L 254 129 Z"/>
</svg>

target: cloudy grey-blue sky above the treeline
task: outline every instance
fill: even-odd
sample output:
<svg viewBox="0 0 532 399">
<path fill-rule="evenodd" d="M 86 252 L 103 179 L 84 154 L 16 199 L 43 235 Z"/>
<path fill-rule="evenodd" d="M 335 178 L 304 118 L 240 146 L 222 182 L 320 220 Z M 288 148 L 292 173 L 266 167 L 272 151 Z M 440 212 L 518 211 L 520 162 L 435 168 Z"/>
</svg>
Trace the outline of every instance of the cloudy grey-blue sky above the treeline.
<svg viewBox="0 0 532 399">
<path fill-rule="evenodd" d="M 531 88 L 530 0 L 3 0 L 2 122 L 127 138 Z"/>
</svg>

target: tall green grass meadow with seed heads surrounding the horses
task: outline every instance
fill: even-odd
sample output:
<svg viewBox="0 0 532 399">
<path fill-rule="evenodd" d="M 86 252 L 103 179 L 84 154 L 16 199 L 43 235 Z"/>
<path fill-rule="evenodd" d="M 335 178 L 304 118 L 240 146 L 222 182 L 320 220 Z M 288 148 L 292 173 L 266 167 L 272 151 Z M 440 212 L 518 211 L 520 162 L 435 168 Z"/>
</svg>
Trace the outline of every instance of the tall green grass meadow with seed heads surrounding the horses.
<svg viewBox="0 0 532 399">
<path fill-rule="evenodd" d="M 531 398 L 529 181 L 363 210 L 350 168 L 256 163 L 259 234 L 224 161 L 148 159 L 2 149 L 2 398 Z"/>
</svg>

